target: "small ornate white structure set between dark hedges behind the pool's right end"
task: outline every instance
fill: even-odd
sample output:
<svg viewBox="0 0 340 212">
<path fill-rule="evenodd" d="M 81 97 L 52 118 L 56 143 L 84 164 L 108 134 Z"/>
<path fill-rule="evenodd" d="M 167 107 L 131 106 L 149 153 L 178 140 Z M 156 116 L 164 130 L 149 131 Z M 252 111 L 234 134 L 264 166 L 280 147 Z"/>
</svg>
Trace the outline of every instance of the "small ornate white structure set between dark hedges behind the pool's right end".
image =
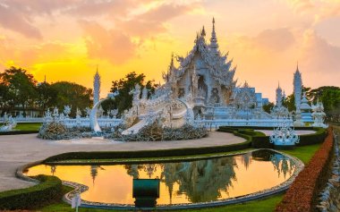
<svg viewBox="0 0 340 212">
<path fill-rule="evenodd" d="M 295 143 L 299 143 L 300 138 L 293 128 L 284 122 L 274 129 L 269 140 L 276 147 L 293 147 Z"/>
</svg>

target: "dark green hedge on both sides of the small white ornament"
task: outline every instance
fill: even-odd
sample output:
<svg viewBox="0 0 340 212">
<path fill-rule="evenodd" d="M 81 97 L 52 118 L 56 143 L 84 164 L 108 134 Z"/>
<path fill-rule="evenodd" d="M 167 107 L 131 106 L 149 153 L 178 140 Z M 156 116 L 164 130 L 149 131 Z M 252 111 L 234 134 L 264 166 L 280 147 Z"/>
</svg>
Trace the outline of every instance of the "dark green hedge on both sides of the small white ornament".
<svg viewBox="0 0 340 212">
<path fill-rule="evenodd" d="M 257 130 L 263 130 L 264 127 L 257 129 Z M 242 134 L 247 134 L 251 136 L 251 147 L 253 148 L 274 148 L 274 144 L 269 142 L 269 136 L 266 136 L 264 133 L 259 131 L 253 131 L 253 129 L 256 129 L 255 127 L 252 127 L 252 129 L 245 129 L 245 128 L 239 128 L 239 127 L 225 127 L 222 126 L 218 129 L 218 131 L 226 131 L 226 132 L 238 132 Z M 295 130 L 298 130 L 299 128 L 294 128 Z M 273 130 L 273 128 L 270 128 L 270 130 Z M 325 140 L 327 136 L 327 129 L 324 128 L 307 128 L 304 127 L 303 130 L 313 130 L 316 131 L 313 134 L 307 134 L 307 135 L 301 135 L 300 136 L 300 142 L 296 144 L 297 147 L 321 143 L 323 140 Z"/>
</svg>

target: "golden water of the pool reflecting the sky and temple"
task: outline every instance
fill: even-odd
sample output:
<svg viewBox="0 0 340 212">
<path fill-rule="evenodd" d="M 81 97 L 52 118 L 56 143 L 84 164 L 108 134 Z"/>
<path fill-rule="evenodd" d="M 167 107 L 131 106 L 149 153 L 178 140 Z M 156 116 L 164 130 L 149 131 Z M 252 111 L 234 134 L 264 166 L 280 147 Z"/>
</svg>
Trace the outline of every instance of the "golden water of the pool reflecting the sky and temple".
<svg viewBox="0 0 340 212">
<path fill-rule="evenodd" d="M 133 179 L 159 179 L 157 205 L 228 199 L 270 189 L 289 179 L 296 165 L 271 150 L 166 163 L 119 165 L 36 165 L 25 174 L 50 174 L 89 186 L 81 199 L 134 204 Z"/>
</svg>

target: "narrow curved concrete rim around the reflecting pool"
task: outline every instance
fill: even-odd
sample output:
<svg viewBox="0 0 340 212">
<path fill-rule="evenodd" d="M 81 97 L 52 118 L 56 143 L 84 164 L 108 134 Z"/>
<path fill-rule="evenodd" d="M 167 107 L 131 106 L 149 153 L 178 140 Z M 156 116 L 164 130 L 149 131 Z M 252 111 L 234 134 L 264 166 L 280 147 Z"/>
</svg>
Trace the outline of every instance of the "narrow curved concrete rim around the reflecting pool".
<svg viewBox="0 0 340 212">
<path fill-rule="evenodd" d="M 210 156 L 210 157 L 208 157 L 208 156 L 207 157 L 192 157 L 191 159 L 200 159 L 200 158 L 207 159 L 207 158 L 213 158 L 213 157 L 229 157 L 229 156 L 235 156 L 235 155 L 240 155 L 240 154 L 245 154 L 245 153 L 251 153 L 253 151 L 258 151 L 258 150 L 261 150 L 261 149 L 266 149 L 266 148 L 253 149 L 253 150 L 250 150 L 250 151 L 231 153 L 231 154 L 227 154 L 227 155 L 218 155 L 218 156 Z M 215 201 L 210 201 L 210 202 L 200 202 L 200 203 L 174 204 L 174 205 L 171 205 L 171 206 L 170 205 L 158 205 L 157 208 L 143 208 L 143 209 L 170 210 L 170 209 L 218 207 L 218 206 L 225 206 L 225 205 L 242 203 L 242 202 L 251 201 L 251 200 L 254 200 L 254 199 L 263 199 L 263 198 L 266 198 L 268 196 L 272 196 L 272 195 L 275 195 L 277 193 L 286 191 L 289 188 L 289 186 L 293 183 L 295 177 L 302 171 L 304 164 L 300 159 L 298 159 L 296 157 L 290 156 L 288 154 L 277 151 L 275 149 L 269 149 L 269 150 L 276 152 L 278 154 L 282 154 L 285 157 L 291 158 L 293 160 L 294 164 L 296 165 L 296 169 L 294 170 L 292 176 L 289 179 L 287 179 L 285 182 L 282 182 L 282 183 L 280 183 L 280 184 L 278 184 L 278 185 L 276 185 L 276 186 L 274 186 L 270 189 L 267 189 L 267 190 L 257 191 L 257 192 L 250 193 L 250 194 L 247 194 L 247 195 L 244 195 L 244 196 L 230 198 L 230 199 L 220 199 L 220 200 L 215 200 Z M 157 158 L 151 159 L 151 160 L 148 160 L 148 161 L 159 162 L 159 160 L 157 160 Z M 21 167 L 19 167 L 17 169 L 16 176 L 18 178 L 21 178 L 22 180 L 28 180 L 28 181 L 34 180 L 34 179 L 31 179 L 30 177 L 24 175 L 23 170 L 30 168 L 31 166 L 41 164 L 41 162 L 42 161 L 37 161 L 37 162 L 30 163 L 30 164 L 27 164 L 27 165 L 22 165 Z M 146 161 L 142 161 L 142 162 L 146 162 Z M 122 163 L 122 161 L 120 161 L 120 163 Z M 77 182 L 65 182 L 65 181 L 63 181 L 63 184 L 67 185 L 67 186 L 71 186 L 73 188 L 73 190 L 66 193 L 64 195 L 64 198 L 63 198 L 63 200 L 68 204 L 71 204 L 72 195 L 75 192 L 83 192 L 83 191 L 87 190 L 86 185 L 82 185 L 82 184 L 77 183 Z M 91 202 L 91 201 L 87 201 L 87 200 L 83 200 L 83 199 L 82 199 L 82 203 L 81 203 L 81 208 L 102 208 L 102 209 L 121 209 L 121 210 L 136 209 L 134 207 L 134 205 L 129 205 L 129 204 Z"/>
</svg>

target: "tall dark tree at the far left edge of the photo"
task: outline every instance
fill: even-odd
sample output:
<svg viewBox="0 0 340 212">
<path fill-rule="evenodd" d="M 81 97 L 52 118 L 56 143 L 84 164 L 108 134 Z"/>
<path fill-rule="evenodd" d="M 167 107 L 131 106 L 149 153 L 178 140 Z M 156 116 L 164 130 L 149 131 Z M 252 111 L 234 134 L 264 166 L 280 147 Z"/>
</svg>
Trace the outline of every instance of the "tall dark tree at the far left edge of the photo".
<svg viewBox="0 0 340 212">
<path fill-rule="evenodd" d="M 15 106 L 21 106 L 23 115 L 26 116 L 25 110 L 27 106 L 33 106 L 37 91 L 33 75 L 21 68 L 11 67 L 0 73 L 1 85 L 7 87 L 7 95 L 4 96 L 4 101 L 14 109 Z"/>
</svg>

